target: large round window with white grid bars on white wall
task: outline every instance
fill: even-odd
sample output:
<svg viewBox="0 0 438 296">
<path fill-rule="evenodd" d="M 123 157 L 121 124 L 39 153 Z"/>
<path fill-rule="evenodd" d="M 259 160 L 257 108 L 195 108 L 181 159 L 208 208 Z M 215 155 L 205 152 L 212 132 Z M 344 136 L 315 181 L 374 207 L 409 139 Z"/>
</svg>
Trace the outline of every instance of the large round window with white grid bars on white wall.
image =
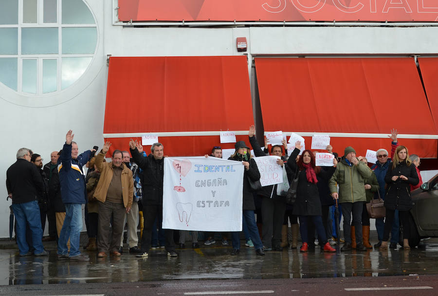
<svg viewBox="0 0 438 296">
<path fill-rule="evenodd" d="M 96 21 L 83 0 L 0 0 L 0 82 L 27 96 L 60 92 L 90 65 Z"/>
</svg>

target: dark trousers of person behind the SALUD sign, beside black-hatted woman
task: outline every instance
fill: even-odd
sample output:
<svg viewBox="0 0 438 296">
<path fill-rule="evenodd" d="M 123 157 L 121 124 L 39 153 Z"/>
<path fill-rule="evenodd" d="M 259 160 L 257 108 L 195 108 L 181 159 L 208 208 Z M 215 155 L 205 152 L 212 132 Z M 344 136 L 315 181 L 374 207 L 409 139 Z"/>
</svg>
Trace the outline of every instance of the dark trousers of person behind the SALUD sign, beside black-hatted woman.
<svg viewBox="0 0 438 296">
<path fill-rule="evenodd" d="M 286 203 L 284 199 L 262 197 L 262 242 L 269 248 L 279 246 Z"/>
</svg>

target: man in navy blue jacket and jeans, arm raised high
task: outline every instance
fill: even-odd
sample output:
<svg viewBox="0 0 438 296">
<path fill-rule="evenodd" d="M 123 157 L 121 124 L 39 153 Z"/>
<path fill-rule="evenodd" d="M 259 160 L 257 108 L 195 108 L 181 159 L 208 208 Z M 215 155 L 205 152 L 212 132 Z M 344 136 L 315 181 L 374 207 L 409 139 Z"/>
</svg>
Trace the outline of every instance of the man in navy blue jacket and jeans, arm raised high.
<svg viewBox="0 0 438 296">
<path fill-rule="evenodd" d="M 77 144 L 73 142 L 73 131 L 65 136 L 65 144 L 58 160 L 59 182 L 62 202 L 65 204 L 65 219 L 58 240 L 58 260 L 90 261 L 79 251 L 82 230 L 82 204 L 86 203 L 86 182 L 82 167 L 90 160 L 94 149 L 78 155 Z M 70 239 L 70 255 L 67 242 Z"/>
</svg>

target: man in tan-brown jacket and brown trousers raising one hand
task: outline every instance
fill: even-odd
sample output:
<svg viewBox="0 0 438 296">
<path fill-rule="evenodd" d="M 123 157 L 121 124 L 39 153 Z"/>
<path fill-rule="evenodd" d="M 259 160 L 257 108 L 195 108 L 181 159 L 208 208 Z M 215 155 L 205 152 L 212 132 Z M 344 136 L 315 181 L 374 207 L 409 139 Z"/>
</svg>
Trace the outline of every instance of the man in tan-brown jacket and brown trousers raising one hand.
<svg viewBox="0 0 438 296">
<path fill-rule="evenodd" d="M 125 214 L 132 206 L 134 181 L 132 171 L 123 163 L 123 153 L 115 150 L 112 162 L 104 163 L 111 143 L 106 142 L 97 154 L 95 165 L 101 172 L 99 183 L 94 191 L 94 198 L 99 201 L 99 226 L 97 231 L 97 257 L 106 257 L 107 251 L 113 256 L 120 256 L 120 237 L 125 224 Z M 109 246 L 110 220 L 112 220 L 112 239 Z"/>
</svg>

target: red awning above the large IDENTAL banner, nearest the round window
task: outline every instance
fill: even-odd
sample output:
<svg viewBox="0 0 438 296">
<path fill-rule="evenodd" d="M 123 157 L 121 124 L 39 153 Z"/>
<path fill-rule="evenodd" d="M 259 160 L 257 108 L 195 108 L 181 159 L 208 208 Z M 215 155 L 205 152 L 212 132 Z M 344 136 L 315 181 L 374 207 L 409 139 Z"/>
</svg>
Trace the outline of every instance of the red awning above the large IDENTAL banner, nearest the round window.
<svg viewBox="0 0 438 296">
<path fill-rule="evenodd" d="M 110 57 L 104 137 L 114 148 L 152 132 L 164 154 L 199 156 L 219 144 L 220 130 L 253 122 L 246 56 Z"/>
</svg>

